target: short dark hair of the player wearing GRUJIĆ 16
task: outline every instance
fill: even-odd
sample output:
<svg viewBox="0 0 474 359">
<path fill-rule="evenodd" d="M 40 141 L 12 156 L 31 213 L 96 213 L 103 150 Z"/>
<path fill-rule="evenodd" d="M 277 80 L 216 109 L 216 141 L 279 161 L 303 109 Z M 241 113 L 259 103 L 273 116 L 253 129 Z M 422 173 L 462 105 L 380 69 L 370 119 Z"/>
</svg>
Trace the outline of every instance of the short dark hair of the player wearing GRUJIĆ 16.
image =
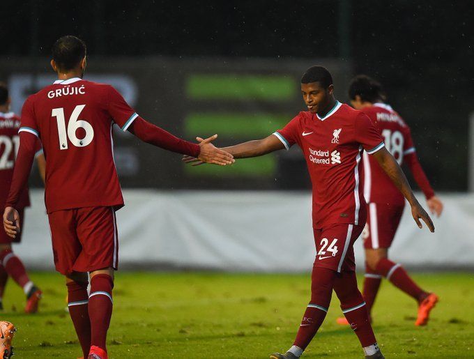
<svg viewBox="0 0 474 359">
<path fill-rule="evenodd" d="M 86 56 L 86 44 L 75 36 L 63 36 L 54 43 L 52 54 L 60 70 L 72 70 Z"/>
</svg>

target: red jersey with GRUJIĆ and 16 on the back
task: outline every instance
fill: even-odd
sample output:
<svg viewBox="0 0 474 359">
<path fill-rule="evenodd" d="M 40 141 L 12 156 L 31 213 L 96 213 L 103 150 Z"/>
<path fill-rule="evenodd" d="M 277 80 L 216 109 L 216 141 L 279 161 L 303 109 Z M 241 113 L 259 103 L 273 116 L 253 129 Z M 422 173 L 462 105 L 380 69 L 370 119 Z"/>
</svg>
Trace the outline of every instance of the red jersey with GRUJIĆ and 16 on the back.
<svg viewBox="0 0 474 359">
<path fill-rule="evenodd" d="M 78 77 L 57 80 L 29 96 L 19 132 L 30 132 L 43 142 L 48 213 L 123 206 L 112 125 L 125 131 L 137 116 L 112 86 Z"/>
</svg>

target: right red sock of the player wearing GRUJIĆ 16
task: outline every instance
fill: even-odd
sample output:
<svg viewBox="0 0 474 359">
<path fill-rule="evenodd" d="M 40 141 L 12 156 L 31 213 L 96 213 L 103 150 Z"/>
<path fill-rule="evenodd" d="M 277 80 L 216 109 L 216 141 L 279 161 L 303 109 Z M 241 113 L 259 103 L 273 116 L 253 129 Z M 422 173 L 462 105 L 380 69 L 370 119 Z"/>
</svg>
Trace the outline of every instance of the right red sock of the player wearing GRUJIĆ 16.
<svg viewBox="0 0 474 359">
<path fill-rule="evenodd" d="M 94 275 L 89 294 L 89 318 L 91 319 L 91 346 L 107 351 L 106 339 L 112 317 L 112 288 L 114 281 L 107 274 Z"/>
</svg>

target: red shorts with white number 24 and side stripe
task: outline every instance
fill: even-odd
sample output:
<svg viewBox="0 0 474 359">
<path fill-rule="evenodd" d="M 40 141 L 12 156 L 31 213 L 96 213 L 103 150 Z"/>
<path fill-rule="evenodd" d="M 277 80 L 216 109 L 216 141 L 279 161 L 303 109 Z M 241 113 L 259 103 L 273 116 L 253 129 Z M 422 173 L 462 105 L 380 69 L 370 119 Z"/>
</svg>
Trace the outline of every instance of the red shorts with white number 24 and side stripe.
<svg viewBox="0 0 474 359">
<path fill-rule="evenodd" d="M 314 266 L 336 270 L 338 273 L 355 271 L 353 245 L 363 228 L 336 223 L 323 229 L 313 229 L 316 244 Z"/>
</svg>

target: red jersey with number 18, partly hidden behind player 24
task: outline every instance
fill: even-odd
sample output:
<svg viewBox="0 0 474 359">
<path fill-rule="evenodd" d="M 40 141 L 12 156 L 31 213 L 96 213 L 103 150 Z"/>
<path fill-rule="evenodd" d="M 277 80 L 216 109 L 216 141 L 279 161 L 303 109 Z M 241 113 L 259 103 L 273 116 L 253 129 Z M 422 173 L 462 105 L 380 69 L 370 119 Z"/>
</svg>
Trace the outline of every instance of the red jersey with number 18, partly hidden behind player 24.
<svg viewBox="0 0 474 359">
<path fill-rule="evenodd" d="M 406 155 L 415 153 L 411 132 L 402 117 L 392 107 L 375 103 L 362 112 L 369 116 L 382 135 L 385 147 L 402 166 Z M 364 197 L 367 203 L 404 206 L 405 198 L 372 156 L 364 153 Z"/>
</svg>

